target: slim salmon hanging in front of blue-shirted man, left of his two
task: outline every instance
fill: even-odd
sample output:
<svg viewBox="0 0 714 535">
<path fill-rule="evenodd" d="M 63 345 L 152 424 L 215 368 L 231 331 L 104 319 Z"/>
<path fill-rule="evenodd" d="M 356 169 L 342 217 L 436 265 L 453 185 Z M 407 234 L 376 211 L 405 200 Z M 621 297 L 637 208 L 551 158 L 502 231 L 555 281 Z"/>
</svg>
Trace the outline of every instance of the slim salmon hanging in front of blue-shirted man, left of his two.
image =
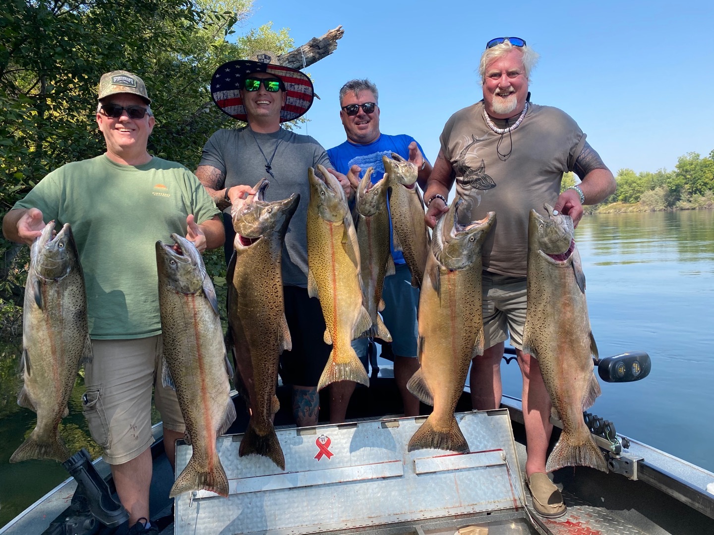
<svg viewBox="0 0 714 535">
<path fill-rule="evenodd" d="M 372 184 L 373 168 L 362 178 L 356 197 L 357 241 L 359 243 L 364 307 L 372 327 L 367 335 L 391 342 L 389 330 L 377 312 L 384 310 L 382 287 L 386 275 L 394 275 L 394 261 L 389 249 L 388 176 Z"/>
</svg>

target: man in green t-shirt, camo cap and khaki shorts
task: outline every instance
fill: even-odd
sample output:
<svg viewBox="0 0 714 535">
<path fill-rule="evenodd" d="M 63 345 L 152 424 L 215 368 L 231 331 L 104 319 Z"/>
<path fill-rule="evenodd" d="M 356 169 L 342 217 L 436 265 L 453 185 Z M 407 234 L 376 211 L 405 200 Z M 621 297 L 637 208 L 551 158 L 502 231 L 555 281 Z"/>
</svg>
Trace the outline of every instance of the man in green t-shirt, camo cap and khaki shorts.
<svg viewBox="0 0 714 535">
<path fill-rule="evenodd" d="M 130 532 L 158 533 L 148 521 L 152 388 L 171 464 L 186 427 L 176 392 L 161 385 L 155 243 L 177 233 L 200 251 L 218 248 L 223 223 L 191 171 L 146 150 L 154 116 L 139 76 L 104 74 L 98 100 L 106 153 L 46 175 L 7 213 L 3 233 L 29 245 L 50 220 L 71 224 L 94 353 L 85 367 L 84 414 L 129 511 Z"/>
</svg>

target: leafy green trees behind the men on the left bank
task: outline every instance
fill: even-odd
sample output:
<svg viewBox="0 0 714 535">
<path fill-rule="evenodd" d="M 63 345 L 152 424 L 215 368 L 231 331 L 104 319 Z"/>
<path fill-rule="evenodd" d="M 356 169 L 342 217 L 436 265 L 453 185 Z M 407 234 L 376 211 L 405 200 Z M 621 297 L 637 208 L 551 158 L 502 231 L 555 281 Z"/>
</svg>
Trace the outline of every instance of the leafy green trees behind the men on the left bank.
<svg viewBox="0 0 714 535">
<path fill-rule="evenodd" d="M 144 79 L 156 116 L 149 151 L 196 168 L 218 128 L 237 121 L 213 105 L 216 67 L 292 48 L 270 24 L 236 36 L 252 0 L 6 0 L 0 6 L 0 216 L 49 171 L 104 152 L 96 128 L 102 73 Z M 230 42 L 228 41 L 230 38 Z M 0 238 L 0 312 L 21 305 L 28 248 Z M 222 253 L 221 253 L 222 254 Z M 13 328 L 16 322 L 8 320 Z"/>
</svg>

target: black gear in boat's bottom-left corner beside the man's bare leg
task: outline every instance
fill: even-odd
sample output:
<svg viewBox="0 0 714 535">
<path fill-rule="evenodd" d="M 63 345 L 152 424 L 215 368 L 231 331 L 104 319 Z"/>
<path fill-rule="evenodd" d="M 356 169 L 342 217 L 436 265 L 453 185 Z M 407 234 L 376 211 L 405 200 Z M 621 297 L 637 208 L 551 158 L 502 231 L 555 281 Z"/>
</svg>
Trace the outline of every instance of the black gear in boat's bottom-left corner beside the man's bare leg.
<svg viewBox="0 0 714 535">
<path fill-rule="evenodd" d="M 62 466 L 74 477 L 77 488 L 69 509 L 44 535 L 94 535 L 104 526 L 116 527 L 129 520 L 129 513 L 111 496 L 86 449 L 80 449 Z"/>
</svg>

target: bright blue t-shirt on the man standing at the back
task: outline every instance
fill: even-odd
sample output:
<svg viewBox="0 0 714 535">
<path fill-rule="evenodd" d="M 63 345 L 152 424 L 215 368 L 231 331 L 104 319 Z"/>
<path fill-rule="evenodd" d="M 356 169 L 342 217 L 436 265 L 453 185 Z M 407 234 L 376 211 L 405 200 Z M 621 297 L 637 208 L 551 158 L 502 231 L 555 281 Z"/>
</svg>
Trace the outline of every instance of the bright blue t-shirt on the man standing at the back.
<svg viewBox="0 0 714 535">
<path fill-rule="evenodd" d="M 416 141 L 413 137 L 407 136 L 406 134 L 400 134 L 398 136 L 388 136 L 387 134 L 380 134 L 380 136 L 367 145 L 357 145 L 356 143 L 351 143 L 351 141 L 345 141 L 341 145 L 328 149 L 327 156 L 330 157 L 330 162 L 333 167 L 343 174 L 347 174 L 348 170 L 353 165 L 359 165 L 362 169 L 359 173 L 359 177 L 363 178 L 364 173 L 367 168 L 374 168 L 374 173 L 372 173 L 372 183 L 377 183 L 384 176 L 384 163 L 382 161 L 382 156 L 388 156 L 391 158 L 392 153 L 397 153 L 402 158 L 406 160 L 409 159 L 409 143 Z M 422 156 L 426 159 L 423 148 L 419 143 L 416 146 L 421 151 Z M 404 255 L 401 251 L 394 250 L 394 240 L 391 236 L 392 233 L 392 220 L 389 218 L 389 245 L 392 250 L 392 258 L 395 264 L 404 264 Z"/>
</svg>

